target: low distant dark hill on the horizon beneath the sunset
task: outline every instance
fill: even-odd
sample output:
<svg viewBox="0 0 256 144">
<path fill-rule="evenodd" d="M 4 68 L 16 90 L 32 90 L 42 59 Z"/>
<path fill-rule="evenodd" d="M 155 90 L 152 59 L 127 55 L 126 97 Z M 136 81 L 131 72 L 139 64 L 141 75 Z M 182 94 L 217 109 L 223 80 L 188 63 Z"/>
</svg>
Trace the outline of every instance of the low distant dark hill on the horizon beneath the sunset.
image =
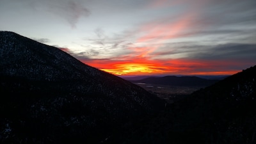
<svg viewBox="0 0 256 144">
<path fill-rule="evenodd" d="M 164 76 L 164 77 L 147 77 L 133 83 L 161 84 L 170 86 L 210 86 L 216 83 L 216 79 L 202 79 L 195 76 Z"/>
</svg>

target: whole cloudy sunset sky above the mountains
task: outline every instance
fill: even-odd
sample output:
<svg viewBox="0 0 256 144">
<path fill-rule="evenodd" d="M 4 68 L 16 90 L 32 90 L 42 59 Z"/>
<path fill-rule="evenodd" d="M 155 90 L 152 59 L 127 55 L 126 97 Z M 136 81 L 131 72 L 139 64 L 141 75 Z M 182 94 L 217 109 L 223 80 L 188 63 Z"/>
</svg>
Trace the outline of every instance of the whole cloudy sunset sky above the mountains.
<svg viewBox="0 0 256 144">
<path fill-rule="evenodd" d="M 256 65 L 255 0 L 0 0 L 0 31 L 118 76 L 231 75 Z"/>
</svg>

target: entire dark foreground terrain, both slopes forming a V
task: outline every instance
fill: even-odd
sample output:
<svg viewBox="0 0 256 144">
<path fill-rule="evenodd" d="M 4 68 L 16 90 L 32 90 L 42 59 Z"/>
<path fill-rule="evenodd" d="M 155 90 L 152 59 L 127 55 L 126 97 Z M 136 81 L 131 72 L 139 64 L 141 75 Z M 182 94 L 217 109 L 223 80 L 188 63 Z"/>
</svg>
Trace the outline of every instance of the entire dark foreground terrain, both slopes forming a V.
<svg viewBox="0 0 256 144">
<path fill-rule="evenodd" d="M 256 143 L 256 66 L 166 104 L 16 33 L 0 58 L 0 143 Z"/>
</svg>

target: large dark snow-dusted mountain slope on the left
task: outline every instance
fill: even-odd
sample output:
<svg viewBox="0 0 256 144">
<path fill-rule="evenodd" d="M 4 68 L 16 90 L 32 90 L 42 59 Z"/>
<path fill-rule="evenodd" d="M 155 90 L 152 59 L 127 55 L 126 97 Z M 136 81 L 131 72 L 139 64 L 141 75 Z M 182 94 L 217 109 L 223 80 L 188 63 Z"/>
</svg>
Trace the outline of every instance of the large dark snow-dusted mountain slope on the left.
<svg viewBox="0 0 256 144">
<path fill-rule="evenodd" d="M 0 143 L 100 143 L 163 100 L 56 47 L 0 31 Z"/>
</svg>

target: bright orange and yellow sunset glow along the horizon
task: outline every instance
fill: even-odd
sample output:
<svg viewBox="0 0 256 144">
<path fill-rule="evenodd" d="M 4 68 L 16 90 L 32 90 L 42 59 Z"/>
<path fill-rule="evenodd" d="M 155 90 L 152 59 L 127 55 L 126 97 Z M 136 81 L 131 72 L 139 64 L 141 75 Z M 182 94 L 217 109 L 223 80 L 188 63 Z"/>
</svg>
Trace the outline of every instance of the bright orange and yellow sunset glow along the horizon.
<svg viewBox="0 0 256 144">
<path fill-rule="evenodd" d="M 136 61 L 141 61 L 137 63 Z M 82 61 L 116 76 L 139 75 L 232 75 L 241 70 L 228 70 L 225 66 L 236 65 L 236 62 L 196 61 L 196 60 L 90 60 Z"/>
</svg>

